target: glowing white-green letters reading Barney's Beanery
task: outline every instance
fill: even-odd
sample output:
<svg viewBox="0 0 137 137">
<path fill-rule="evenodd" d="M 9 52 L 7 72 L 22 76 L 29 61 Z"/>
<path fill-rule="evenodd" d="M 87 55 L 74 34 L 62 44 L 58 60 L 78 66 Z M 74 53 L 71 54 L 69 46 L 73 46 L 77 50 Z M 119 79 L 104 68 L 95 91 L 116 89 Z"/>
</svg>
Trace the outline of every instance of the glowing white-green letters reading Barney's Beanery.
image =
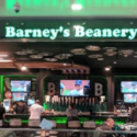
<svg viewBox="0 0 137 137">
<path fill-rule="evenodd" d="M 137 36 L 137 28 L 84 28 L 83 26 L 73 26 L 75 35 L 72 37 L 127 37 L 134 39 Z M 71 30 L 59 26 L 58 28 L 15 28 L 5 26 L 5 37 L 18 38 L 42 38 L 48 37 L 56 39 L 60 34 L 62 37 L 70 37 Z"/>
</svg>

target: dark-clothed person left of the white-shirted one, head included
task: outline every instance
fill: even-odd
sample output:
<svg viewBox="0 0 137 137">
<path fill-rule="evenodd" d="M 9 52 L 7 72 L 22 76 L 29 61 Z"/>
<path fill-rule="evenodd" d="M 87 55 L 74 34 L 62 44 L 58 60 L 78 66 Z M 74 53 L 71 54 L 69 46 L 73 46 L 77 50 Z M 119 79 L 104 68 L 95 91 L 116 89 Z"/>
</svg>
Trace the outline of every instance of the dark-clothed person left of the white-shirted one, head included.
<svg viewBox="0 0 137 137">
<path fill-rule="evenodd" d="M 24 101 L 19 101 L 14 107 L 14 114 L 28 114 L 28 107 L 25 105 Z"/>
</svg>

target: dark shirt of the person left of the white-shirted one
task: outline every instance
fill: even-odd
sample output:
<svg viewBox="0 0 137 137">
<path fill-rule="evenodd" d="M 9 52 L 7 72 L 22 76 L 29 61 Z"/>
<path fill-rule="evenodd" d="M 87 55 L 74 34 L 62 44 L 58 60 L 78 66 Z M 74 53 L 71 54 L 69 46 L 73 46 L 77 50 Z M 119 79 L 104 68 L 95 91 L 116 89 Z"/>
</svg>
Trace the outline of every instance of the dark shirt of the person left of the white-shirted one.
<svg viewBox="0 0 137 137">
<path fill-rule="evenodd" d="M 23 106 L 16 105 L 15 109 L 14 109 L 14 112 L 16 114 L 27 114 L 28 113 L 28 109 L 27 109 L 26 105 L 23 105 Z"/>
</svg>

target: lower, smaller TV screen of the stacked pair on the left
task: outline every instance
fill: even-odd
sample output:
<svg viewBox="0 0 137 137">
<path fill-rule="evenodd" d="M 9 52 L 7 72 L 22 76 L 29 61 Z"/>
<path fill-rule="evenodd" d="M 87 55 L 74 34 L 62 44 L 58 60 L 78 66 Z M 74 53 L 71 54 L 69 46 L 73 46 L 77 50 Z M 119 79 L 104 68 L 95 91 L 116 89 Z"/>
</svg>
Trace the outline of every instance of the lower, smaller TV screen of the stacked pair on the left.
<svg viewBox="0 0 137 137">
<path fill-rule="evenodd" d="M 13 93 L 12 94 L 12 100 L 13 101 L 26 101 L 26 99 L 27 99 L 27 93 Z"/>
</svg>

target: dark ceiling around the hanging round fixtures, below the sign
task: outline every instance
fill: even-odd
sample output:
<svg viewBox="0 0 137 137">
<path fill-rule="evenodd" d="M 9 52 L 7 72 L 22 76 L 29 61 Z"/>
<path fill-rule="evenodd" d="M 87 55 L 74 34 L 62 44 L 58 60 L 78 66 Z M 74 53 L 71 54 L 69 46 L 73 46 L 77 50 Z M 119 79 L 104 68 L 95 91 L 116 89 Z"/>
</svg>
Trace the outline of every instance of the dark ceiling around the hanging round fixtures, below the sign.
<svg viewBox="0 0 137 137">
<path fill-rule="evenodd" d="M 87 46 L 95 45 L 100 46 L 101 50 L 92 52 L 88 50 Z M 119 54 L 114 56 L 106 56 L 104 55 L 105 50 L 104 47 L 116 47 L 116 52 L 118 53 L 121 49 L 133 49 L 134 53 L 128 56 L 124 57 Z M 8 54 L 10 55 L 8 59 L 13 59 L 18 62 L 48 62 L 44 60 L 44 58 L 53 58 L 58 54 L 71 54 L 71 49 L 73 48 L 84 48 L 85 55 L 73 55 L 67 59 L 58 59 L 57 62 L 66 62 L 66 64 L 78 64 L 82 66 L 89 66 L 90 68 L 104 68 L 111 66 L 112 68 L 136 68 L 137 67 L 137 43 L 136 42 L 69 42 L 69 43 L 46 43 L 46 42 L 37 42 L 37 43 L 19 43 L 19 42 L 0 42 L 0 55 Z M 43 57 L 41 59 L 32 59 L 30 58 L 31 54 L 25 56 L 16 55 L 15 52 L 21 52 L 22 49 L 35 49 L 37 53 L 48 52 L 53 53 L 53 56 Z M 104 60 L 98 60 L 96 58 L 89 58 L 89 55 L 101 54 Z M 114 64 L 116 61 L 116 64 Z M 39 66 L 37 66 L 38 68 Z M 3 68 L 3 65 L 2 65 Z"/>
</svg>

